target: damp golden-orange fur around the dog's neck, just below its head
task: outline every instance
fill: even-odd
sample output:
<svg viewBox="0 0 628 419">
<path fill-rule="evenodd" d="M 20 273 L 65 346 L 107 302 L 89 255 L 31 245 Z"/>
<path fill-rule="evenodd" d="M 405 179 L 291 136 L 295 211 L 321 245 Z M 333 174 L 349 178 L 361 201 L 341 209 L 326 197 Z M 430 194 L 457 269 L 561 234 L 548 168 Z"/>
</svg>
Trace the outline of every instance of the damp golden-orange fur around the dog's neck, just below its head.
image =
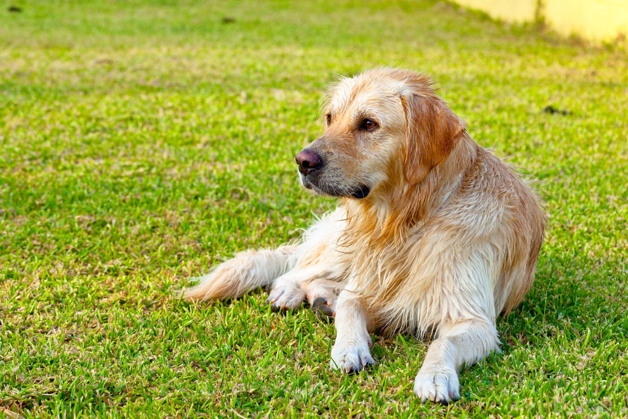
<svg viewBox="0 0 628 419">
<path fill-rule="evenodd" d="M 447 159 L 430 170 L 418 184 L 408 184 L 398 168 L 394 176 L 398 179 L 396 186 L 383 187 L 376 196 L 359 201 L 344 199 L 342 206 L 347 210 L 347 233 L 341 239 L 343 247 L 360 252 L 360 249 L 403 246 L 460 188 L 479 149 L 465 132 Z"/>
</svg>

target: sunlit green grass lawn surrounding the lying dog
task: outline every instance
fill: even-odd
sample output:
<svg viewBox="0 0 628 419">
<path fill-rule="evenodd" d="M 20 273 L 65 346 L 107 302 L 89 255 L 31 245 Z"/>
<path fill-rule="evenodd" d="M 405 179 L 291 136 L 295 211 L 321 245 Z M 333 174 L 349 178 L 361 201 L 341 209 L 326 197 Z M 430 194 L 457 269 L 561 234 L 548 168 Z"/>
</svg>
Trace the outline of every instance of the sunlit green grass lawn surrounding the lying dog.
<svg viewBox="0 0 628 419">
<path fill-rule="evenodd" d="M 0 5 L 0 416 L 628 415 L 625 50 L 435 1 Z M 551 213 L 504 354 L 447 407 L 412 391 L 426 342 L 374 336 L 338 375 L 310 310 L 172 293 L 333 208 L 293 157 L 374 65 L 434 74 Z"/>
</svg>

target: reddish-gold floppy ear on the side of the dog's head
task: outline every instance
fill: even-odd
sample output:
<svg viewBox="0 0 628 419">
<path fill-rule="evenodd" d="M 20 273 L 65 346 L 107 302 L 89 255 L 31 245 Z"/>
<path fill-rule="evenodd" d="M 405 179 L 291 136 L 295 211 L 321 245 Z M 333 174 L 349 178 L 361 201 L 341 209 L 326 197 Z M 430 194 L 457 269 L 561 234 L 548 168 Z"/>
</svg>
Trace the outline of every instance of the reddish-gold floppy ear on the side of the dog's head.
<svg viewBox="0 0 628 419">
<path fill-rule="evenodd" d="M 436 96 L 401 96 L 406 113 L 403 174 L 411 185 L 421 182 L 447 158 L 465 131 L 464 123 Z"/>
</svg>

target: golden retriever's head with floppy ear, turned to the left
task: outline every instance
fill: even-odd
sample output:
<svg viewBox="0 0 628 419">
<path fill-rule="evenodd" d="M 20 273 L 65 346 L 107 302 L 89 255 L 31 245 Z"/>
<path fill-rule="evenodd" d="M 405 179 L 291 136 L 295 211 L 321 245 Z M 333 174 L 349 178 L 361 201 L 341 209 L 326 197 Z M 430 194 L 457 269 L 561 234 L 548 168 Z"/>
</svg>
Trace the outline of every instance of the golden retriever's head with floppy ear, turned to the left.
<svg viewBox="0 0 628 419">
<path fill-rule="evenodd" d="M 297 156 L 303 186 L 356 199 L 416 186 L 465 132 L 430 79 L 374 69 L 342 79 L 324 108 L 325 131 Z"/>
</svg>

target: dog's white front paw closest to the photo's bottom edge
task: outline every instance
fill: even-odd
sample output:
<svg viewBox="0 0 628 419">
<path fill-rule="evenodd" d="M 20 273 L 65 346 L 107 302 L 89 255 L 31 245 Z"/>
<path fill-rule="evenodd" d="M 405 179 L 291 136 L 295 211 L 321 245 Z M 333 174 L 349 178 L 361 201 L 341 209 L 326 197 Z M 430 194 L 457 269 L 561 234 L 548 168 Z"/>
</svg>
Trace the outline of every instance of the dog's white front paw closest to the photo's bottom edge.
<svg viewBox="0 0 628 419">
<path fill-rule="evenodd" d="M 441 405 L 460 399 L 458 374 L 443 364 L 425 365 L 414 379 L 414 393 L 425 403 L 431 400 Z"/>
</svg>

